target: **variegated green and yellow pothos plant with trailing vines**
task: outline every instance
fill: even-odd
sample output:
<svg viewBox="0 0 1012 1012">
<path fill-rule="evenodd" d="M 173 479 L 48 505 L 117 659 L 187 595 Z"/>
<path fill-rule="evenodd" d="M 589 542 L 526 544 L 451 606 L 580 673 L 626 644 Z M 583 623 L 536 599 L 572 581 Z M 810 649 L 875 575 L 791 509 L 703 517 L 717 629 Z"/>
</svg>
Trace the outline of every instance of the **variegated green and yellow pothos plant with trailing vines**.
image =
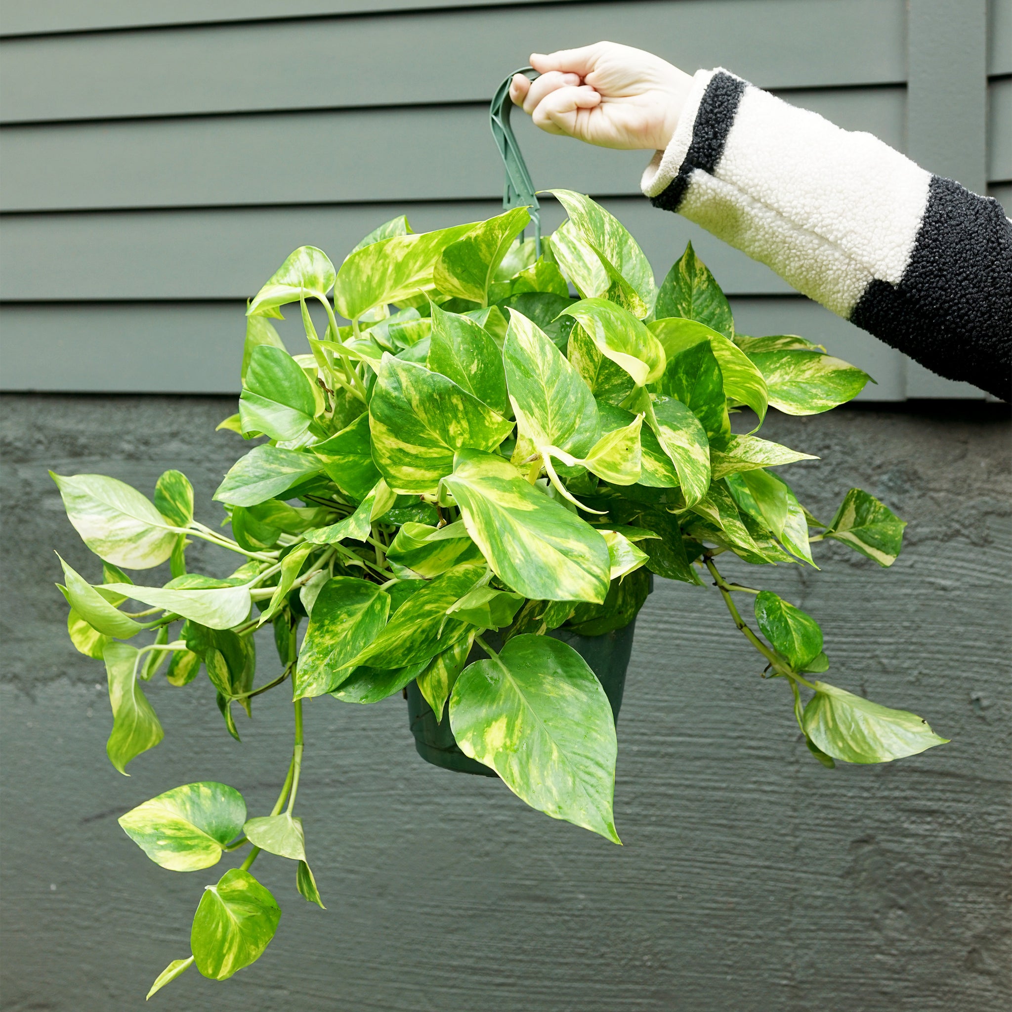
<svg viewBox="0 0 1012 1012">
<path fill-rule="evenodd" d="M 238 790 L 201 782 L 119 820 L 174 871 L 246 851 L 205 888 L 190 954 L 151 994 L 191 963 L 225 980 L 260 956 L 281 916 L 251 872 L 261 852 L 294 862 L 299 893 L 323 906 L 296 814 L 306 700 L 371 703 L 416 680 L 437 718 L 448 709 L 466 755 L 533 808 L 618 843 L 607 697 L 581 656 L 545 634 L 627 624 L 652 573 L 718 589 L 826 766 L 945 741 L 913 713 L 817 678 L 830 662 L 815 619 L 722 572 L 725 559 L 818 568 L 813 546 L 825 539 L 893 564 L 904 521 L 859 489 L 829 522 L 816 519 L 774 470 L 811 454 L 755 434 L 769 407 L 827 411 L 868 376 L 800 337 L 737 333 L 691 246 L 658 289 L 616 219 L 553 192 L 569 217 L 540 255 L 522 240 L 520 207 L 424 234 L 395 219 L 336 270 L 309 246 L 284 261 L 249 304 L 239 413 L 219 426 L 264 440 L 215 493 L 231 537 L 194 518 L 177 471 L 153 501 L 112 478 L 54 475 L 102 562 L 92 584 L 61 560 L 61 590 L 74 645 L 105 663 L 117 770 L 162 739 L 142 685 L 166 661 L 180 688 L 206 671 L 237 740 L 236 715 L 251 715 L 258 695 L 290 686 L 293 700 L 294 743 L 269 814 L 248 818 Z M 285 305 L 301 312 L 308 353 L 289 354 L 270 323 Z M 192 538 L 243 564 L 190 573 Z M 163 586 L 123 572 L 166 562 Z M 146 607 L 126 611 L 129 600 Z M 280 672 L 255 686 L 254 634 L 266 625 Z M 142 634 L 153 639 L 130 642 Z M 484 659 L 469 665 L 476 645 Z"/>
</svg>

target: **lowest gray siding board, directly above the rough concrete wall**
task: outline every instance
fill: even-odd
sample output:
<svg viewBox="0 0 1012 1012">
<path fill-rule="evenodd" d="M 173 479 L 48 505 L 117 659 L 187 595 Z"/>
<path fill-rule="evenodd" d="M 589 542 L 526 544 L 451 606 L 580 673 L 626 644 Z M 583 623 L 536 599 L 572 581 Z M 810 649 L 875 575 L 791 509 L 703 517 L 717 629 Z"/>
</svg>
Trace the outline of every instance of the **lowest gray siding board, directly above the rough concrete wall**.
<svg viewBox="0 0 1012 1012">
<path fill-rule="evenodd" d="M 804 334 L 867 369 L 878 386 L 866 389 L 863 400 L 908 396 L 902 357 L 815 303 L 796 296 L 736 299 L 733 309 L 743 333 Z M 2 389 L 238 395 L 244 312 L 241 301 L 6 304 Z M 298 313 L 278 328 L 289 350 L 306 350 Z"/>
</svg>

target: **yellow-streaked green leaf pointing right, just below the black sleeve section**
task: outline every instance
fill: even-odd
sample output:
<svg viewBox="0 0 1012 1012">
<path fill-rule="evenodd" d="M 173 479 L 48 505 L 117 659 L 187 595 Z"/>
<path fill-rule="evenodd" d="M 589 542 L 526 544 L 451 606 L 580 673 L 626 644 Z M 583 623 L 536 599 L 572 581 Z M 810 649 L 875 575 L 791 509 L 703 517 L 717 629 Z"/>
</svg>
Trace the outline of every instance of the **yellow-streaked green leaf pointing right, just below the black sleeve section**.
<svg viewBox="0 0 1012 1012">
<path fill-rule="evenodd" d="M 867 372 L 819 351 L 748 352 L 763 374 L 769 403 L 786 415 L 818 415 L 853 400 Z"/>
</svg>

